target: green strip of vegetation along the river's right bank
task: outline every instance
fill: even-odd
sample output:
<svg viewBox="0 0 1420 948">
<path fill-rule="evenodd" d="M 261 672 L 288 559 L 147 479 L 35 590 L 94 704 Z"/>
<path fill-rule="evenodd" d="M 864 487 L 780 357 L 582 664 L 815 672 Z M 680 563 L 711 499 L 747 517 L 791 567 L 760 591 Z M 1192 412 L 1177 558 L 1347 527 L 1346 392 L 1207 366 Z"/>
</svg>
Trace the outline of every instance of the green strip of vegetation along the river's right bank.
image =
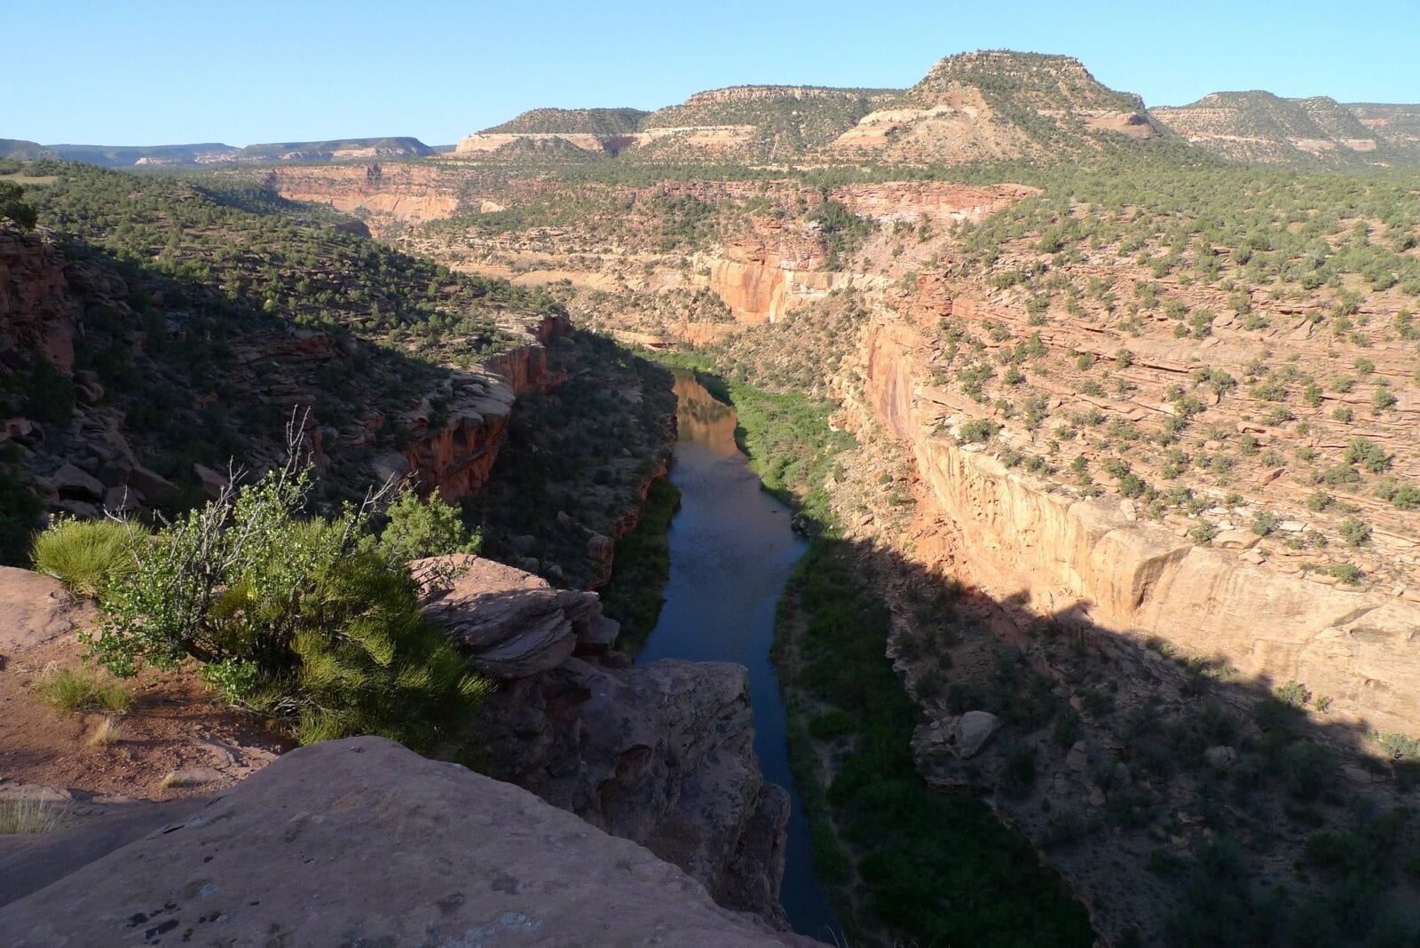
<svg viewBox="0 0 1420 948">
<path fill-rule="evenodd" d="M 724 379 L 694 353 L 656 358 L 696 369 L 736 407 L 751 467 L 812 536 L 780 600 L 774 660 L 814 870 L 848 942 L 1091 944 L 1083 908 L 1027 842 L 980 799 L 941 795 L 916 769 L 920 711 L 886 656 L 888 609 L 839 538 L 825 487 L 853 447 L 831 430 L 831 403 Z"/>
</svg>

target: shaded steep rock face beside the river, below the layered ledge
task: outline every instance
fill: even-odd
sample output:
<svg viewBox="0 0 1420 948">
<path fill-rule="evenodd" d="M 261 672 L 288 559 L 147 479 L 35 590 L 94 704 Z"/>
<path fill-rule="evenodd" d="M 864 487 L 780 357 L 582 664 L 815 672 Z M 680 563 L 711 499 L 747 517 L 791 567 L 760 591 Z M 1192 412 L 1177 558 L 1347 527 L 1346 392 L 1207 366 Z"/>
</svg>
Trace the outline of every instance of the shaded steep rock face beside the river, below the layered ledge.
<svg viewBox="0 0 1420 948">
<path fill-rule="evenodd" d="M 569 658 L 488 702 L 493 773 L 784 924 L 788 795 L 760 775 L 740 666 Z"/>
</svg>

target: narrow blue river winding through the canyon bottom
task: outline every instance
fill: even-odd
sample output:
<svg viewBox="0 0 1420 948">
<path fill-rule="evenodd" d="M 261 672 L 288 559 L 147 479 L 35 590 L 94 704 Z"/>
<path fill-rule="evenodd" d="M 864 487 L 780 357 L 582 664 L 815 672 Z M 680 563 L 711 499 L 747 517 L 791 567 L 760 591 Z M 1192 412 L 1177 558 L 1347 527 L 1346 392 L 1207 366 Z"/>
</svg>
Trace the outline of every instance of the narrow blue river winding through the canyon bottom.
<svg viewBox="0 0 1420 948">
<path fill-rule="evenodd" d="M 792 800 L 784 911 L 795 931 L 834 941 L 838 924 L 814 878 L 808 820 L 790 771 L 784 702 L 770 661 L 774 607 L 808 545 L 790 529 L 790 509 L 760 490 L 736 446 L 734 409 L 679 370 L 676 396 L 670 481 L 680 488 L 680 511 L 670 522 L 670 579 L 660 622 L 636 660 L 734 661 L 748 668 L 760 769 Z"/>
</svg>

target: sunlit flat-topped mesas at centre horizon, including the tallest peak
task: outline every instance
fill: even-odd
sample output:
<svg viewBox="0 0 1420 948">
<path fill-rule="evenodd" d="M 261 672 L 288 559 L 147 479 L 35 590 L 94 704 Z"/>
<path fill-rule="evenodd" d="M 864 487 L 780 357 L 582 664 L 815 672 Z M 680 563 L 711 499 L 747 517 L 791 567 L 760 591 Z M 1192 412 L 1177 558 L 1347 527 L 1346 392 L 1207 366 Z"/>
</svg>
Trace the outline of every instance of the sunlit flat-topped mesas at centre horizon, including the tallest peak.
<svg viewBox="0 0 1420 948">
<path fill-rule="evenodd" d="M 588 119 L 628 114 L 618 128 Z M 456 153 L 514 156 L 559 139 L 629 160 L 966 163 L 1088 152 L 1103 139 L 1157 138 L 1143 102 L 1098 82 L 1071 57 L 967 53 L 939 61 L 910 89 L 737 85 L 680 105 L 534 109 L 464 138 Z"/>
</svg>

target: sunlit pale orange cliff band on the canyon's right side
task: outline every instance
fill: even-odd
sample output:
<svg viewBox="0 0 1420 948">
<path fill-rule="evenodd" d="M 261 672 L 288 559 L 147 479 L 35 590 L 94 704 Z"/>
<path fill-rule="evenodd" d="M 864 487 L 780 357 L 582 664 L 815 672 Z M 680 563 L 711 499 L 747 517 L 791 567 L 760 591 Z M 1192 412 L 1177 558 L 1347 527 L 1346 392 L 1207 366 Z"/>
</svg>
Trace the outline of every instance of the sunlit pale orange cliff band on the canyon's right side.
<svg viewBox="0 0 1420 948">
<path fill-rule="evenodd" d="M 917 326 L 879 316 L 859 379 L 863 417 L 906 441 L 922 478 L 920 549 L 997 599 L 1025 595 L 1065 624 L 1159 636 L 1275 687 L 1299 681 L 1358 727 L 1420 732 L 1420 603 L 1348 590 L 1196 546 L 1136 519 L 1129 501 L 1075 500 L 960 446 L 929 419 L 932 385 Z"/>
</svg>

